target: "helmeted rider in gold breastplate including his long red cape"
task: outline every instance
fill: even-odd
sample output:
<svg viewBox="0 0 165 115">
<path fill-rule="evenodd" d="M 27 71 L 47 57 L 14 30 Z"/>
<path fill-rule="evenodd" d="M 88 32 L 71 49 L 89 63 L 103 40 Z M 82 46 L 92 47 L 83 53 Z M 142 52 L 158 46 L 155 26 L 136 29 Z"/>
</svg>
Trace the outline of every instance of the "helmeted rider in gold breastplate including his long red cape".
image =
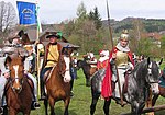
<svg viewBox="0 0 165 115">
<path fill-rule="evenodd" d="M 128 33 L 121 34 L 118 45 L 110 53 L 109 61 L 110 62 L 108 64 L 106 76 L 102 81 L 101 95 L 102 97 L 108 99 L 108 100 L 110 96 L 113 95 L 116 99 L 118 99 L 118 101 L 120 101 L 119 88 L 117 83 L 118 82 L 117 69 L 119 72 L 119 79 L 120 79 L 120 85 L 121 85 L 121 92 L 122 92 L 122 87 L 125 82 L 124 72 L 128 69 L 134 68 L 132 53 L 130 51 L 130 48 L 129 48 Z M 114 65 L 117 65 L 117 68 Z M 114 89 L 112 87 L 114 87 Z"/>
</svg>

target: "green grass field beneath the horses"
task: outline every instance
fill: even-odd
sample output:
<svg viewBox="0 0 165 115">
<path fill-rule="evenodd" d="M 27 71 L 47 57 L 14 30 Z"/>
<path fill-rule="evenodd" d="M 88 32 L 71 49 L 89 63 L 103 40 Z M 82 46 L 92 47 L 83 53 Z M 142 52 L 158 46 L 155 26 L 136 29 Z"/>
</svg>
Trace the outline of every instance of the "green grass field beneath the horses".
<svg viewBox="0 0 165 115">
<path fill-rule="evenodd" d="M 74 84 L 74 93 L 75 96 L 70 101 L 69 105 L 69 115 L 90 115 L 90 103 L 91 103 L 91 94 L 90 88 L 85 85 L 85 77 L 81 69 L 78 71 L 78 79 L 75 80 Z M 41 104 L 43 102 L 40 102 Z M 165 104 L 165 99 L 160 97 L 157 100 L 157 105 Z M 96 108 L 95 115 L 103 115 L 103 100 L 99 100 Z M 56 115 L 63 115 L 64 112 L 64 103 L 62 101 L 57 102 L 55 105 Z M 125 105 L 121 107 L 116 104 L 112 100 L 110 106 L 110 115 L 120 115 L 121 113 L 130 112 L 130 105 Z M 31 112 L 31 115 L 44 115 L 44 106 L 42 104 L 40 110 L 35 110 Z M 155 115 L 165 115 L 165 111 L 156 112 Z"/>
</svg>

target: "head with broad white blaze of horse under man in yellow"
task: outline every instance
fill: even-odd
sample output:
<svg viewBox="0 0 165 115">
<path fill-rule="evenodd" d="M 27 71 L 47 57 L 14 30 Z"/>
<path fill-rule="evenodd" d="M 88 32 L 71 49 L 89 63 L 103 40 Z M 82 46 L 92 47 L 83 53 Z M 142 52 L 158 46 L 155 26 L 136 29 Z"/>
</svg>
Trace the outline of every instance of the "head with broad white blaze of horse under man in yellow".
<svg viewBox="0 0 165 115">
<path fill-rule="evenodd" d="M 61 55 L 57 67 L 59 69 L 61 74 L 64 77 L 64 82 L 69 82 L 72 80 L 69 55 Z"/>
</svg>

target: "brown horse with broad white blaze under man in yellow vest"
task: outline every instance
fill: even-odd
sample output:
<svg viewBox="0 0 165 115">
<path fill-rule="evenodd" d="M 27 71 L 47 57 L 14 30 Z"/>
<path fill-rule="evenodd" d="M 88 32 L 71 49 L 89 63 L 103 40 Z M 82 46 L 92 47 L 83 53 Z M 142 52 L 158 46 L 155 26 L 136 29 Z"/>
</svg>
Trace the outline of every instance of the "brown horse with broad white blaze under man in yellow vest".
<svg viewBox="0 0 165 115">
<path fill-rule="evenodd" d="M 65 105 L 64 115 L 68 115 L 68 106 L 70 102 L 70 57 L 59 55 L 59 60 L 51 70 L 45 82 L 47 91 L 47 100 L 44 100 L 45 114 L 47 113 L 47 101 L 51 106 L 51 115 L 55 115 L 54 106 L 57 101 L 63 100 Z"/>
</svg>

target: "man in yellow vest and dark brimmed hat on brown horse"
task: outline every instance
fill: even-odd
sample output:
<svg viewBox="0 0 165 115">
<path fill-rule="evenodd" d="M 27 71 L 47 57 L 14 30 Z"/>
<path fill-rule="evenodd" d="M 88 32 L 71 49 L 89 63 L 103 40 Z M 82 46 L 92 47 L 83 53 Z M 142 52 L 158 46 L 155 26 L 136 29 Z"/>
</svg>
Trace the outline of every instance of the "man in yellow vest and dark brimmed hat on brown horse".
<svg viewBox="0 0 165 115">
<path fill-rule="evenodd" d="M 50 39 L 50 43 L 46 45 L 45 55 L 44 55 L 44 62 L 41 70 L 41 99 L 45 100 L 45 87 L 44 87 L 44 74 L 46 71 L 51 70 L 58 61 L 59 54 L 62 50 L 62 46 L 57 43 L 59 36 L 56 33 L 50 33 L 46 38 Z"/>
</svg>

